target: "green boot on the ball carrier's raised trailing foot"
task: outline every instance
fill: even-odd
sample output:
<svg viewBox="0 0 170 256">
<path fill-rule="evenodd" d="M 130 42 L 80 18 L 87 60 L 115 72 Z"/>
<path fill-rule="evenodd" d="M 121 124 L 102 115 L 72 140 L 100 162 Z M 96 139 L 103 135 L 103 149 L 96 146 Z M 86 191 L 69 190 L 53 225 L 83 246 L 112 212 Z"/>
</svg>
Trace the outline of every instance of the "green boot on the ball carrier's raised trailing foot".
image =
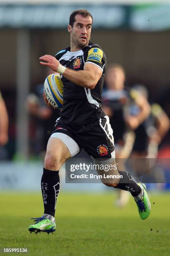
<svg viewBox="0 0 170 256">
<path fill-rule="evenodd" d="M 138 183 L 138 185 L 143 190 L 143 196 L 139 200 L 138 200 L 138 197 L 135 197 L 135 202 L 136 202 L 137 207 L 138 207 L 138 212 L 139 212 L 140 218 L 142 220 L 145 220 L 150 215 L 151 206 L 150 206 L 150 201 L 149 201 L 149 198 L 148 198 L 148 195 L 147 195 L 145 184 L 144 183 Z"/>
</svg>

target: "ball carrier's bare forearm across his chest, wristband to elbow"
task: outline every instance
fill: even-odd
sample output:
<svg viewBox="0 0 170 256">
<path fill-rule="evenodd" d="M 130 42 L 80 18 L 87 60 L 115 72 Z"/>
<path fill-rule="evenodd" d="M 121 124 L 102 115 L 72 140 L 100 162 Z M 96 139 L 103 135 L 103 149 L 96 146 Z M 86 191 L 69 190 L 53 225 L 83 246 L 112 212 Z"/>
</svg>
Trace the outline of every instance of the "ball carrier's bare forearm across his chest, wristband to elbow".
<svg viewBox="0 0 170 256">
<path fill-rule="evenodd" d="M 70 80 L 72 83 L 77 84 L 81 87 L 86 87 L 89 89 L 94 89 L 95 87 L 95 77 L 86 70 L 75 71 L 69 68 L 65 69 L 65 72 L 62 74 L 63 77 Z"/>
</svg>

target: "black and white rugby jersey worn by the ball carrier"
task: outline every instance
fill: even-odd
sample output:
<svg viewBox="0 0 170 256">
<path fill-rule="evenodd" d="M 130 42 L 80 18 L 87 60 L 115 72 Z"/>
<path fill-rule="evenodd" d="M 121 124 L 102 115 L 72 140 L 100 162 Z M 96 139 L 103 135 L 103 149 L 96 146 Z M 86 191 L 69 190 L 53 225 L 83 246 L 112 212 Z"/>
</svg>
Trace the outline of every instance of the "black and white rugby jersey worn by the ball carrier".
<svg viewBox="0 0 170 256">
<path fill-rule="evenodd" d="M 61 75 L 64 84 L 63 106 L 60 120 L 63 123 L 85 124 L 105 116 L 101 108 L 101 94 L 106 69 L 106 56 L 101 47 L 89 42 L 79 51 L 70 52 L 70 47 L 55 55 L 64 67 L 83 70 L 85 62 L 90 62 L 102 70 L 102 76 L 94 89 L 78 86 Z"/>
</svg>

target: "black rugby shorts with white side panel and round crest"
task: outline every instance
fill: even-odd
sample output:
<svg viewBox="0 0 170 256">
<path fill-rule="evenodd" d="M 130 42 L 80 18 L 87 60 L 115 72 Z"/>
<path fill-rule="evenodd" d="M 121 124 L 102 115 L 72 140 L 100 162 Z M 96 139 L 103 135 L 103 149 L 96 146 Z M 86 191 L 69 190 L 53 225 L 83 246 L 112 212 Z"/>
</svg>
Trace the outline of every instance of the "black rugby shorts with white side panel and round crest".
<svg viewBox="0 0 170 256">
<path fill-rule="evenodd" d="M 95 159 L 114 158 L 115 147 L 108 116 L 88 124 L 72 125 L 56 121 L 53 133 L 64 133 Z"/>
</svg>

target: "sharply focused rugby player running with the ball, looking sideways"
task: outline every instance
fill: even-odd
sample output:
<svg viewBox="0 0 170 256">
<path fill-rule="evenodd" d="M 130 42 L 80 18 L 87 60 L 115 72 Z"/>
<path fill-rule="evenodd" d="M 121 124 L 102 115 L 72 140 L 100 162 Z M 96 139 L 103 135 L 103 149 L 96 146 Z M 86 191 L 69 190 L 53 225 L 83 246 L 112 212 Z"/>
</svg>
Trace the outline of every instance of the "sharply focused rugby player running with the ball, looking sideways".
<svg viewBox="0 0 170 256">
<path fill-rule="evenodd" d="M 28 228 L 30 232 L 55 231 L 55 207 L 60 190 L 59 169 L 67 159 L 84 148 L 95 161 L 115 164 L 112 128 L 101 108 L 106 56 L 99 45 L 90 41 L 92 22 L 92 15 L 87 10 L 71 13 L 68 25 L 70 46 L 59 51 L 55 57 L 40 57 L 40 64 L 60 73 L 64 84 L 64 102 L 61 117 L 47 143 L 41 179 L 44 214 L 34 219 L 35 224 Z M 97 171 L 103 174 L 102 170 Z M 150 202 L 145 186 L 137 184 L 127 172 L 114 168 L 110 174 L 118 177 L 122 175 L 121 181 L 119 178 L 101 181 L 107 186 L 129 191 L 138 206 L 140 218 L 148 218 Z"/>
</svg>

